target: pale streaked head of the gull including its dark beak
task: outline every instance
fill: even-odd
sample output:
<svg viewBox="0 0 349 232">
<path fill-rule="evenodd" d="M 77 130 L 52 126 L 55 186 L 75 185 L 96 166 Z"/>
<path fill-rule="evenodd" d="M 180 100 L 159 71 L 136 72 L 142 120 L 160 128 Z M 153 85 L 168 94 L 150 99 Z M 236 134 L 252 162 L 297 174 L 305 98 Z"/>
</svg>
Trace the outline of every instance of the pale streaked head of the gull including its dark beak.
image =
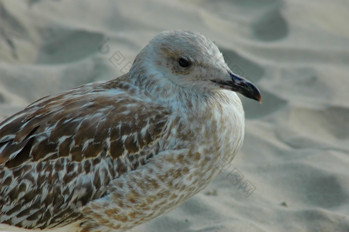
<svg viewBox="0 0 349 232">
<path fill-rule="evenodd" d="M 258 88 L 251 81 L 234 74 L 218 47 L 198 32 L 163 31 L 140 54 L 143 59 L 147 57 L 147 60 L 142 60 L 143 63 L 182 88 L 195 92 L 226 89 L 261 102 Z M 131 71 L 138 63 L 136 57 Z"/>
</svg>

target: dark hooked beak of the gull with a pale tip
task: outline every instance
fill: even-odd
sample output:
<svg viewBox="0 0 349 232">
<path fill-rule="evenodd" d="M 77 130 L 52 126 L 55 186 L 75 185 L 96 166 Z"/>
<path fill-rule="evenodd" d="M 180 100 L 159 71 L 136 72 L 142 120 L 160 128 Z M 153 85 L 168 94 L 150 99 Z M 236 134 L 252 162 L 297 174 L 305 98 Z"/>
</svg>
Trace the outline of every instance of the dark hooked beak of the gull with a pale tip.
<svg viewBox="0 0 349 232">
<path fill-rule="evenodd" d="M 259 92 L 257 86 L 255 86 L 251 81 L 235 75 L 228 71 L 231 80 L 211 80 L 213 83 L 219 85 L 220 88 L 231 90 L 234 92 L 241 93 L 245 97 L 251 98 L 253 100 L 259 101 L 262 103 L 262 96 Z"/>
</svg>

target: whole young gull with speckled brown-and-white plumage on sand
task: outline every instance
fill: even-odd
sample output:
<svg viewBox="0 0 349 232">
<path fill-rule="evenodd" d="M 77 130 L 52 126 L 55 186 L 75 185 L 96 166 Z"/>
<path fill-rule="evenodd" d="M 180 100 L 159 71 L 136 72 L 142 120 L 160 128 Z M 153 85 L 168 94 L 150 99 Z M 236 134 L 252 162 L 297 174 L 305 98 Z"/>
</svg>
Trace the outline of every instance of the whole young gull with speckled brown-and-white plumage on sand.
<svg viewBox="0 0 349 232">
<path fill-rule="evenodd" d="M 170 212 L 240 149 L 235 92 L 261 101 L 215 44 L 173 30 L 129 73 L 32 103 L 0 124 L 0 231 L 125 232 Z"/>
</svg>

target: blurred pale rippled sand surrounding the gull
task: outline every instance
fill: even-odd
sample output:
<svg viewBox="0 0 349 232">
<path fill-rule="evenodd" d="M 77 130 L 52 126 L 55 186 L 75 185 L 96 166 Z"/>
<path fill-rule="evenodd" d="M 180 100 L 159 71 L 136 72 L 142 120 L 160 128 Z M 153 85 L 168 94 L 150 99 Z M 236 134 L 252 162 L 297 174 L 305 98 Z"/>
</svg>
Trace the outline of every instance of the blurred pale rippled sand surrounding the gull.
<svg viewBox="0 0 349 232">
<path fill-rule="evenodd" d="M 205 190 L 132 232 L 349 232 L 348 0 L 0 0 L 0 119 L 199 31 L 263 103 Z"/>
</svg>

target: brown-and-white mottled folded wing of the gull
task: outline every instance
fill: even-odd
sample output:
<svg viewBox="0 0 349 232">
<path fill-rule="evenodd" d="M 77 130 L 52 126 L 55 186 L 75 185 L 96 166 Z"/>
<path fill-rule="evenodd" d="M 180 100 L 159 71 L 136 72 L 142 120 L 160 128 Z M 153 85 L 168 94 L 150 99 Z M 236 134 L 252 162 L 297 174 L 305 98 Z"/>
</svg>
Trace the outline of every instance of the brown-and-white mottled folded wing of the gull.
<svg viewBox="0 0 349 232">
<path fill-rule="evenodd" d="M 85 85 L 0 124 L 0 223 L 44 229 L 83 220 L 79 208 L 157 154 L 171 112 L 127 88 Z"/>
</svg>

